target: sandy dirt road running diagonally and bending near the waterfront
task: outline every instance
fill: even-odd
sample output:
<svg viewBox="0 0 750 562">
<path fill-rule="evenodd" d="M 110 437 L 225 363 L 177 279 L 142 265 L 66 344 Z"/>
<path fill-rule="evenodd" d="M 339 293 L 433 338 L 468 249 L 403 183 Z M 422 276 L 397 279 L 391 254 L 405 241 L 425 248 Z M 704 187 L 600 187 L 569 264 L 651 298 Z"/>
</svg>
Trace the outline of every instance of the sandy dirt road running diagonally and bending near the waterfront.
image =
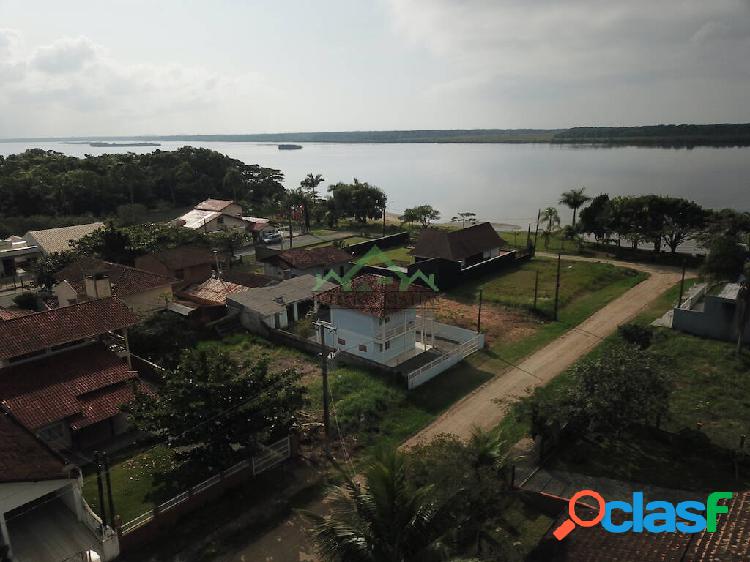
<svg viewBox="0 0 750 562">
<path fill-rule="evenodd" d="M 545 255 L 539 252 L 537 255 Z M 650 275 L 625 294 L 610 302 L 565 335 L 530 355 L 515 367 L 486 382 L 474 392 L 454 404 L 432 424 L 414 435 L 403 447 L 429 441 L 441 433 L 452 433 L 461 438 L 471 434 L 474 425 L 483 429 L 495 427 L 507 413 L 510 403 L 528 395 L 535 387 L 549 382 L 578 359 L 591 351 L 602 338 L 614 332 L 644 310 L 654 299 L 680 280 L 680 272 L 673 268 L 631 264 L 614 260 L 600 260 L 565 256 L 566 260 L 599 261 L 644 271 Z"/>
</svg>

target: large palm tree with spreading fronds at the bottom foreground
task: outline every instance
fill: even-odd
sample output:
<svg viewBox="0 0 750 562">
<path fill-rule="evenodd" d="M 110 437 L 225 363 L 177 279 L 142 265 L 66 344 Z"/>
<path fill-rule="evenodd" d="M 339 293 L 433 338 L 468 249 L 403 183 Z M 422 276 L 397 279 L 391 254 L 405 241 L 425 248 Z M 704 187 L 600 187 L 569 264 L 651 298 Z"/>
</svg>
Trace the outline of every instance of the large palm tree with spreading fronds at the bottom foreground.
<svg viewBox="0 0 750 562">
<path fill-rule="evenodd" d="M 405 458 L 381 452 L 364 484 L 347 478 L 334 489 L 331 514 L 304 515 L 320 556 L 329 562 L 418 562 L 441 559 L 438 540 L 447 517 L 433 500 L 432 486 L 414 489 Z"/>
</svg>

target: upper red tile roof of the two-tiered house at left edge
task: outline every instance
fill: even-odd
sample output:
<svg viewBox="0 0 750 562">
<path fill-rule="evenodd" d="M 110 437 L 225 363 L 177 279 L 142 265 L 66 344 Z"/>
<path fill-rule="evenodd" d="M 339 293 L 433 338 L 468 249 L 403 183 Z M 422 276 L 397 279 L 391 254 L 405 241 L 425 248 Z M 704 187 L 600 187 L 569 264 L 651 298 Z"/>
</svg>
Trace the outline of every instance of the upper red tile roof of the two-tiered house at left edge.
<svg viewBox="0 0 750 562">
<path fill-rule="evenodd" d="M 0 322 L 0 359 L 91 338 L 137 321 L 138 317 L 114 297 L 13 318 Z"/>
</svg>

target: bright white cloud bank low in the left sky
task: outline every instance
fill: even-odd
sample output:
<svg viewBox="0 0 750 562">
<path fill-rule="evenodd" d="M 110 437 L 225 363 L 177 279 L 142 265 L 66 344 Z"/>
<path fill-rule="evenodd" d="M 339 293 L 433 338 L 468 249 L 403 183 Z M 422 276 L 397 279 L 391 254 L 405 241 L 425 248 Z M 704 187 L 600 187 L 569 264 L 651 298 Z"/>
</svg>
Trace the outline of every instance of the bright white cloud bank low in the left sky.
<svg viewBox="0 0 750 562">
<path fill-rule="evenodd" d="M 125 64 L 87 37 L 24 52 L 21 39 L 0 31 L 0 137 L 262 129 L 259 108 L 282 98 L 253 73 Z"/>
</svg>

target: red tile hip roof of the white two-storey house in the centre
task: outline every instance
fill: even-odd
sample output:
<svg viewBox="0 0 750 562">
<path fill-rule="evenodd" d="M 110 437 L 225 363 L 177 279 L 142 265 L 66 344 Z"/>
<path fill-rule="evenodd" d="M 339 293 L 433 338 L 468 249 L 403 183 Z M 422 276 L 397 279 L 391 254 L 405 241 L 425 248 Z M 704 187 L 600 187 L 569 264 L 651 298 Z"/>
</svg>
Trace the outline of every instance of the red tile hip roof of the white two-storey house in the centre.
<svg viewBox="0 0 750 562">
<path fill-rule="evenodd" d="M 436 293 L 419 285 L 401 289 L 399 281 L 379 275 L 355 277 L 350 287 L 340 285 L 318 294 L 315 300 L 335 308 L 348 308 L 382 318 L 391 312 L 415 308 Z"/>
</svg>

